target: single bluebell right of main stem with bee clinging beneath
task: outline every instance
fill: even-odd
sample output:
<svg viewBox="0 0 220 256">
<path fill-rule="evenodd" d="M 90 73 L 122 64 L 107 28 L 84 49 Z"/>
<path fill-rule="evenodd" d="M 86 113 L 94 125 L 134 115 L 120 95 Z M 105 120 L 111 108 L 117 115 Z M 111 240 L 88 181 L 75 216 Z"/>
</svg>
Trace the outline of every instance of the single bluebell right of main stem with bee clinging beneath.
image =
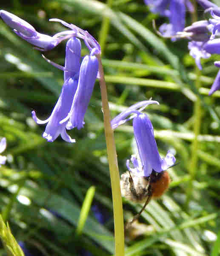
<svg viewBox="0 0 220 256">
<path fill-rule="evenodd" d="M 122 112 L 111 121 L 112 127 L 117 127 L 119 124 L 123 124 L 125 121 L 130 120 L 131 118 L 125 118 L 134 113 L 132 118 L 138 154 L 131 156 L 133 168 L 129 165 L 130 160 L 127 160 L 126 165 L 129 171 L 134 172 L 137 176 L 143 177 L 149 177 L 153 170 L 160 173 L 174 165 L 176 161 L 170 151 L 168 151 L 165 158 L 160 157 L 151 121 L 146 114 L 137 110 L 137 108 L 146 106 L 146 103 L 159 104 L 157 101 L 153 100 L 137 103 L 138 105 L 134 104 L 129 110 Z"/>
</svg>

